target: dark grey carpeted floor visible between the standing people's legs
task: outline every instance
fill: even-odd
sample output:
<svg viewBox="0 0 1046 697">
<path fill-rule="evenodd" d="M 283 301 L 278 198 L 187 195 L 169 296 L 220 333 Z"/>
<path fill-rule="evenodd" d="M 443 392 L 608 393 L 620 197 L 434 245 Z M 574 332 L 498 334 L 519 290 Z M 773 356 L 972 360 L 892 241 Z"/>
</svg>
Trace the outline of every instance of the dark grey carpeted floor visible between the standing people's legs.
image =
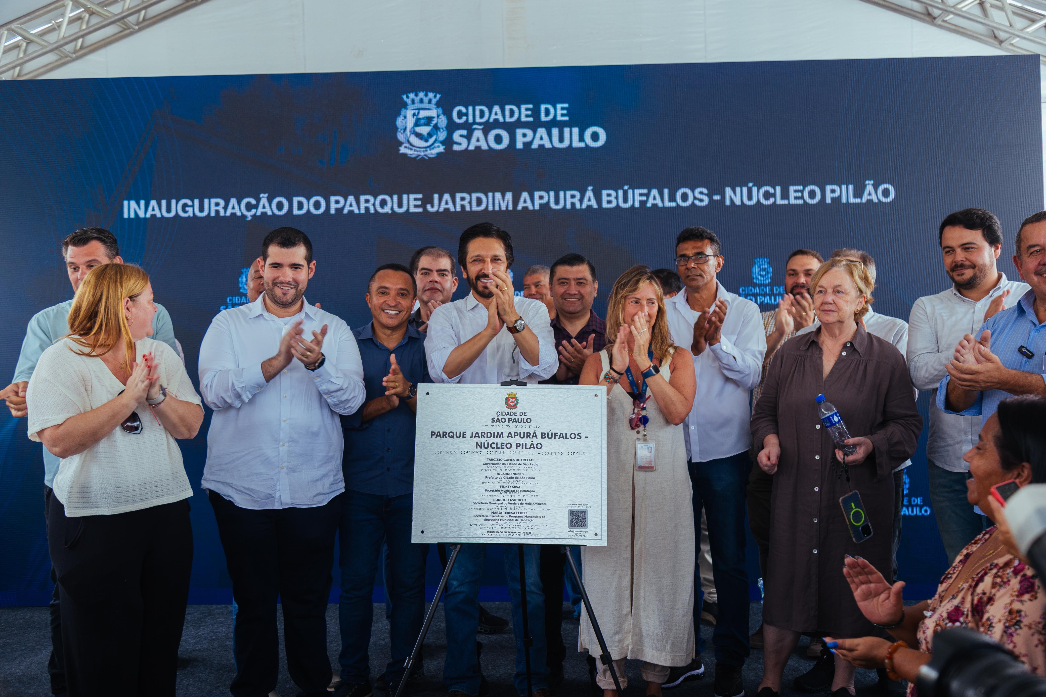
<svg viewBox="0 0 1046 697">
<path fill-rule="evenodd" d="M 484 603 L 492 612 L 510 617 L 508 603 Z M 752 603 L 752 629 L 759 624 L 761 605 Z M 711 627 L 702 627 L 702 633 L 709 643 L 705 651 L 707 677 L 698 682 L 684 683 L 673 690 L 673 695 L 702 695 L 711 697 L 714 659 L 711 648 Z M 564 666 L 566 681 L 556 692 L 558 696 L 589 695 L 588 668 L 585 654 L 570 651 L 577 646 L 577 622 L 563 623 L 564 641 L 568 647 Z M 178 675 L 179 697 L 213 697 L 228 695 L 232 667 L 232 615 L 228 605 L 192 605 L 185 619 L 185 631 L 179 652 L 181 670 Z M 280 632 L 282 641 L 282 632 Z M 515 671 L 516 649 L 511 629 L 503 634 L 480 636 L 483 643 L 482 669 L 491 683 L 492 697 L 516 695 L 511 676 Z M 338 606 L 327 610 L 327 646 L 331 664 L 337 670 L 338 649 Z M 385 606 L 374 605 L 373 636 L 371 640 L 371 675 L 379 675 L 389 659 L 388 624 L 385 621 Z M 786 671 L 784 695 L 796 694 L 791 690 L 792 679 L 805 672 L 813 660 L 805 657 L 806 640 L 802 640 L 796 655 Z M 50 652 L 46 607 L 4 607 L 0 608 L 0 696 L 2 697 L 47 697 L 50 694 L 47 680 L 47 656 Z M 425 677 L 411 691 L 415 697 L 436 697 L 446 695 L 442 686 L 442 664 L 446 654 L 444 613 L 437 611 L 425 645 Z M 643 694 L 643 682 L 639 677 L 638 661 L 630 660 L 627 673 L 631 681 L 627 695 Z M 749 695 L 755 694 L 763 673 L 763 652 L 752 651 L 745 666 L 745 688 Z M 858 697 L 877 694 L 876 673 L 859 670 L 857 676 Z M 287 675 L 287 664 L 281 661 L 279 681 L 276 688 L 281 697 L 295 697 L 297 690 Z M 381 695 L 382 693 L 376 693 Z M 890 697 L 902 697 L 899 683 L 893 683 Z"/>
</svg>

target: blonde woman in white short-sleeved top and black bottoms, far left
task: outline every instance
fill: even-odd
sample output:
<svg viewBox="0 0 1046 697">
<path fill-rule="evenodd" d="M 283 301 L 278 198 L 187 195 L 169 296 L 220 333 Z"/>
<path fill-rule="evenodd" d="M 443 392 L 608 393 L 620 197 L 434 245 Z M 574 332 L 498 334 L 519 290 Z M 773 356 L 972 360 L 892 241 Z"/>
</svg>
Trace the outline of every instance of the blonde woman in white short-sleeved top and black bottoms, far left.
<svg viewBox="0 0 1046 697">
<path fill-rule="evenodd" d="M 175 694 L 192 565 L 175 439 L 203 409 L 175 350 L 149 339 L 155 313 L 144 271 L 93 269 L 26 393 L 29 438 L 62 458 L 47 541 L 73 697 Z"/>
</svg>

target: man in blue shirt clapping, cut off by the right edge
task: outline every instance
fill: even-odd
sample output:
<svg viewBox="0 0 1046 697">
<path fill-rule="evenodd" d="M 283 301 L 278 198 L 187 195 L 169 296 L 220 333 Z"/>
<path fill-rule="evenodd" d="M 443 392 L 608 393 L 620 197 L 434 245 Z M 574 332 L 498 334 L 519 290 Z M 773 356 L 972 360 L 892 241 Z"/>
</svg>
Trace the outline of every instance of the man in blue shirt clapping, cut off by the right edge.
<svg viewBox="0 0 1046 697">
<path fill-rule="evenodd" d="M 942 411 L 983 423 L 1010 395 L 1046 395 L 1046 211 L 1021 224 L 1014 264 L 1031 289 L 986 321 L 978 339 L 959 342 L 937 389 Z"/>
</svg>

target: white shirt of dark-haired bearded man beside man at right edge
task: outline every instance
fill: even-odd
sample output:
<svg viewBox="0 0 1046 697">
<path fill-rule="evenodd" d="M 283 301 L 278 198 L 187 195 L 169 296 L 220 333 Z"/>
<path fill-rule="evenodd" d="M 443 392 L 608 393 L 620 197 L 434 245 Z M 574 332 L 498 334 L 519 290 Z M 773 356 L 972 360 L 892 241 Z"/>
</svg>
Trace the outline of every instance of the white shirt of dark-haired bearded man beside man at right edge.
<svg viewBox="0 0 1046 697">
<path fill-rule="evenodd" d="M 937 408 L 937 386 L 948 374 L 945 366 L 951 362 L 955 345 L 964 334 L 977 335 L 992 301 L 1003 291 L 1009 291 L 1006 306 L 1013 307 L 1030 287 L 1021 281 L 1007 280 L 1005 274 L 1001 276 L 979 302 L 963 297 L 954 285 L 935 296 L 919 298 L 912 305 L 908 320 L 908 372 L 917 390 L 930 390 L 926 457 L 949 471 L 970 470 L 962 456 L 977 443 L 981 417 L 941 412 Z"/>
</svg>

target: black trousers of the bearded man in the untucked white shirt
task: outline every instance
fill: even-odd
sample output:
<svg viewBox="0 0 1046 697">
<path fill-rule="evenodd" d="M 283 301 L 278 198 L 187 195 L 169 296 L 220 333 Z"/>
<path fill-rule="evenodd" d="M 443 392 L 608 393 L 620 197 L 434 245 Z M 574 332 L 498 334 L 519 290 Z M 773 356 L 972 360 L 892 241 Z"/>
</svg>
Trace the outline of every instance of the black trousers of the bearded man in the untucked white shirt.
<svg viewBox="0 0 1046 697">
<path fill-rule="evenodd" d="M 315 508 L 255 511 L 208 493 L 236 601 L 234 697 L 276 689 L 279 644 L 276 601 L 283 606 L 283 643 L 291 679 L 306 697 L 326 697 L 331 660 L 326 607 L 334 540 L 343 495 Z"/>
</svg>

